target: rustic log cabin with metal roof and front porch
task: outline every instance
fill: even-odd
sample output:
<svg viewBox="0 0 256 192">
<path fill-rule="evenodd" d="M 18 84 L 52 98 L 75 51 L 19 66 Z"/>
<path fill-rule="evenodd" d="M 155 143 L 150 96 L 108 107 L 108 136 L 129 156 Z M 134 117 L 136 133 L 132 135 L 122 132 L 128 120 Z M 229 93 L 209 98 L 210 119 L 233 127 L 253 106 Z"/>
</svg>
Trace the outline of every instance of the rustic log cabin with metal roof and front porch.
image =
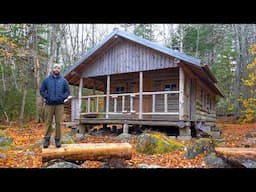
<svg viewBox="0 0 256 192">
<path fill-rule="evenodd" d="M 80 125 L 121 124 L 215 128 L 217 80 L 201 60 L 115 28 L 64 73 L 78 86 L 71 120 Z M 92 95 L 83 95 L 83 88 Z M 97 94 L 96 94 L 97 92 Z"/>
</svg>

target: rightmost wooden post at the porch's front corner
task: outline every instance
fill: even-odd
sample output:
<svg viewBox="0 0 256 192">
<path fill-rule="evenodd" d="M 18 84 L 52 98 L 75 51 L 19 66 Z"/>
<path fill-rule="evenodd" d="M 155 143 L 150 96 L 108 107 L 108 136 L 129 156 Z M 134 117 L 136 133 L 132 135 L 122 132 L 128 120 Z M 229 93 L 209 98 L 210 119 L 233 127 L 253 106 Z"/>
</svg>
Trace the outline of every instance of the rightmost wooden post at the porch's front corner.
<svg viewBox="0 0 256 192">
<path fill-rule="evenodd" d="M 185 83 L 185 76 L 184 71 L 180 67 L 179 72 L 179 120 L 184 120 L 184 83 Z"/>
</svg>

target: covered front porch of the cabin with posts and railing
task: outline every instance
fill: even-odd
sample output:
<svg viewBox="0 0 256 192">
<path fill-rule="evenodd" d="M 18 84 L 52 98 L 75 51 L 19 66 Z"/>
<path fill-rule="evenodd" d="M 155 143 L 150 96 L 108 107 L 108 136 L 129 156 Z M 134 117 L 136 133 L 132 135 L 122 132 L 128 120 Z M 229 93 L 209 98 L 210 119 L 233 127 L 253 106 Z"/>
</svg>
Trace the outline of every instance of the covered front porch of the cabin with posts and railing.
<svg viewBox="0 0 256 192">
<path fill-rule="evenodd" d="M 157 75 L 161 73 L 160 75 Z M 83 87 L 93 93 L 82 95 Z M 98 92 L 99 93 L 99 92 Z M 72 98 L 72 120 L 87 124 L 189 127 L 184 118 L 184 72 L 181 67 L 80 78 Z"/>
</svg>

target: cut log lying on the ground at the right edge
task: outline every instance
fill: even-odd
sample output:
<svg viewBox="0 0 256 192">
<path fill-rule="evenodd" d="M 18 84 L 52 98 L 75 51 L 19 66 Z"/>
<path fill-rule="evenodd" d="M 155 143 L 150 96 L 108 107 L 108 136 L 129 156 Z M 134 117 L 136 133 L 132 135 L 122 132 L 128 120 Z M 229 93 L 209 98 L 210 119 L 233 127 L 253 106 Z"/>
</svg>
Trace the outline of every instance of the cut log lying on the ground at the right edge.
<svg viewBox="0 0 256 192">
<path fill-rule="evenodd" d="M 215 152 L 231 166 L 256 168 L 256 148 L 216 147 Z"/>
</svg>

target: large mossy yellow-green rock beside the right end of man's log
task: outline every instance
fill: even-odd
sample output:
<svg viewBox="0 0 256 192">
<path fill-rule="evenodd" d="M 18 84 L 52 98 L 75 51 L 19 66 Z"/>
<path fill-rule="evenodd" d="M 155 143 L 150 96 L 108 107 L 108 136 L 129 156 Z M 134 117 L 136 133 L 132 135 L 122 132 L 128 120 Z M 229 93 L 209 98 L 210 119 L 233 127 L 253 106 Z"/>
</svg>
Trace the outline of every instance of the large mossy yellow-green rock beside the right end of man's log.
<svg viewBox="0 0 256 192">
<path fill-rule="evenodd" d="M 144 154 L 159 154 L 181 150 L 184 146 L 160 133 L 144 133 L 137 138 L 136 150 Z"/>
</svg>

